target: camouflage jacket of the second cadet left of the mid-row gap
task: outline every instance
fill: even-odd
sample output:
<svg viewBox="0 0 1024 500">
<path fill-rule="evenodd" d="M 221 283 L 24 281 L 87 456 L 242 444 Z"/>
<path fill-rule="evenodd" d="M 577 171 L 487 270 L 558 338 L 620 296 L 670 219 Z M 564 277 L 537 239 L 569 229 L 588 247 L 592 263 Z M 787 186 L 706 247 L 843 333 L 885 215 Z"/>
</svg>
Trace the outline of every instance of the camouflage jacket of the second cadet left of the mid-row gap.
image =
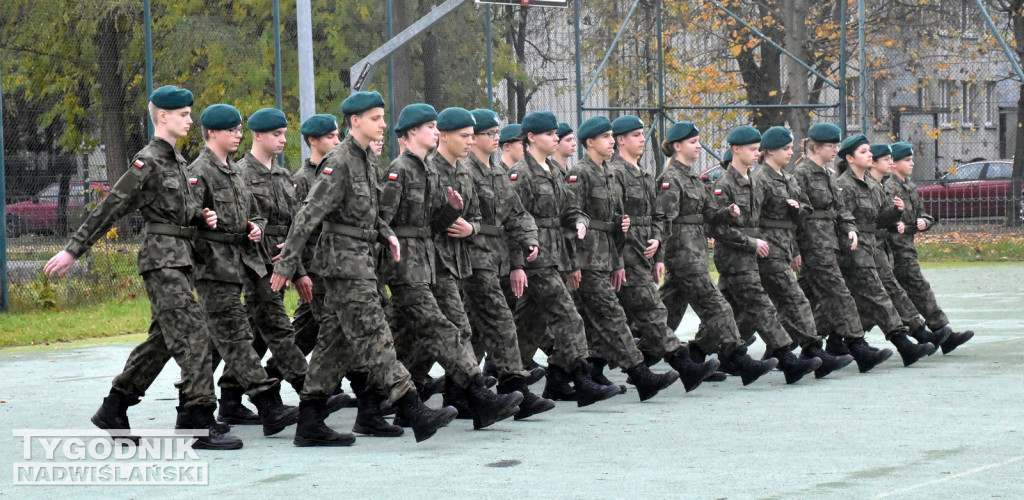
<svg viewBox="0 0 1024 500">
<path fill-rule="evenodd" d="M 623 189 L 607 162 L 600 165 L 584 157 L 566 177 L 580 208 L 590 217 L 587 237 L 577 245 L 575 263 L 581 269 L 611 272 L 625 268 L 623 250 Z"/>
</svg>

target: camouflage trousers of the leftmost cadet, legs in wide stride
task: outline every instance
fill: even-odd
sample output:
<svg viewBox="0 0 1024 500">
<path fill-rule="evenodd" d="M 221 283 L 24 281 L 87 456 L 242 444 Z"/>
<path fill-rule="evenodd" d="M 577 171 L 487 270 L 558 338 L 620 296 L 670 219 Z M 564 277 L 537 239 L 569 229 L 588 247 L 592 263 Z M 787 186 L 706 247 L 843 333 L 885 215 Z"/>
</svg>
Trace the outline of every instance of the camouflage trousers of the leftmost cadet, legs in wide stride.
<svg viewBox="0 0 1024 500">
<path fill-rule="evenodd" d="M 128 355 L 113 386 L 120 392 L 142 398 L 154 380 L 174 359 L 181 370 L 180 390 L 185 407 L 217 403 L 213 391 L 213 361 L 210 331 L 203 308 L 193 295 L 187 267 L 164 267 L 142 274 L 150 297 L 150 336 Z"/>
</svg>

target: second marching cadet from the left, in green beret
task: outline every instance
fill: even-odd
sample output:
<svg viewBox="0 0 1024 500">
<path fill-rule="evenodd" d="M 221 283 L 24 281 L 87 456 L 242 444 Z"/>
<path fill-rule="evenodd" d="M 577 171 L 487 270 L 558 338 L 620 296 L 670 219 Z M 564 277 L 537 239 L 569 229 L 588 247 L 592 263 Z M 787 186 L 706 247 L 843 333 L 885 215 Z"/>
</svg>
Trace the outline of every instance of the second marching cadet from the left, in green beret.
<svg viewBox="0 0 1024 500">
<path fill-rule="evenodd" d="M 246 281 L 258 281 L 267 273 L 256 243 L 262 240 L 266 218 L 258 214 L 256 200 L 242 169 L 231 160 L 242 140 L 242 116 L 230 105 L 213 105 L 200 116 L 205 141 L 199 158 L 188 165 L 188 182 L 203 206 L 217 212 L 216 228 L 196 232 L 196 292 L 213 340 L 213 366 L 222 358 L 224 387 L 238 384 L 256 405 L 263 435 L 273 435 L 295 423 L 298 410 L 281 402 L 281 381 L 267 375 L 253 348 L 242 291 Z M 289 335 L 275 340 L 279 347 L 294 350 L 288 360 L 301 360 L 292 373 L 305 375 L 305 358 Z M 283 356 L 284 351 L 276 355 Z M 301 380 L 301 379 L 298 379 Z"/>
</svg>

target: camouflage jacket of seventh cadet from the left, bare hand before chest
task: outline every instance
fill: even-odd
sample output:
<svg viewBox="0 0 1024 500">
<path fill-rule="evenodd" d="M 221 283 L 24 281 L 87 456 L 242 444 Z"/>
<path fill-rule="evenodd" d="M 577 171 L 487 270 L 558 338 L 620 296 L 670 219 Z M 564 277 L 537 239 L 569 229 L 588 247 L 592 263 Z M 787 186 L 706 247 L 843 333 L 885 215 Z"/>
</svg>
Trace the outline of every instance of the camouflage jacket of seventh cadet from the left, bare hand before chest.
<svg viewBox="0 0 1024 500">
<path fill-rule="evenodd" d="M 469 173 L 467 160 L 458 160 L 452 165 L 438 152 L 427 156 L 427 164 L 440 176 L 441 193 L 452 187 L 462 196 L 462 218 L 473 226 L 473 235 L 480 233 L 480 201 L 476 197 L 476 185 Z M 445 195 L 444 206 L 447 206 Z M 465 238 L 452 238 L 446 231 L 434 235 L 434 249 L 437 251 L 438 268 L 447 269 L 452 276 L 463 279 L 473 274 L 473 263 L 469 257 L 469 245 Z"/>
</svg>

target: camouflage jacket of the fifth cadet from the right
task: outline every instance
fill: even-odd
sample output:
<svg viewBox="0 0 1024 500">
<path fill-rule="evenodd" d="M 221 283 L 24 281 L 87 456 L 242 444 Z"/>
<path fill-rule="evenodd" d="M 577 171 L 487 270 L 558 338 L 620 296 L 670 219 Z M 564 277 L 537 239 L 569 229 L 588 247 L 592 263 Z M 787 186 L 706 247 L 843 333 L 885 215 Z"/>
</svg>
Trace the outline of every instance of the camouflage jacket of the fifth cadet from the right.
<svg viewBox="0 0 1024 500">
<path fill-rule="evenodd" d="M 758 257 L 761 269 L 779 273 L 790 269 L 790 262 L 800 255 L 797 248 L 797 227 L 808 214 L 814 212 L 807 196 L 800 191 L 797 179 L 785 173 L 776 172 L 768 165 L 762 165 L 751 172 L 754 185 L 761 192 L 761 238 L 768 242 L 768 256 Z M 800 202 L 800 208 L 793 208 L 786 200 Z M 786 227 L 790 226 L 790 227 Z"/>
</svg>

